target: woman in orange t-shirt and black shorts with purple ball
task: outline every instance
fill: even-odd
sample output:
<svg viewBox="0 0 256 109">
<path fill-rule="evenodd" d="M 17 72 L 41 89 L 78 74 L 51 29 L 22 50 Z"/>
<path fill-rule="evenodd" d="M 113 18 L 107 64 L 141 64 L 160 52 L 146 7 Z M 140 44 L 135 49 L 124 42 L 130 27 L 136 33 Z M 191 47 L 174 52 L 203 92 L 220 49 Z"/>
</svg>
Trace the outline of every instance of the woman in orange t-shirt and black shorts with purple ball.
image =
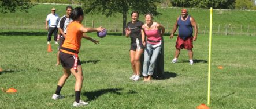
<svg viewBox="0 0 256 109">
<path fill-rule="evenodd" d="M 61 76 L 60 80 L 58 81 L 58 86 L 53 94 L 52 99 L 61 99 L 60 91 L 61 88 L 64 86 L 66 79 L 71 75 L 74 75 L 76 78 L 75 83 L 75 102 L 73 106 L 85 106 L 88 102 L 84 102 L 80 100 L 81 95 L 81 87 L 83 85 L 83 72 L 81 68 L 81 62 L 77 56 L 79 53 L 79 49 L 81 46 L 81 38 L 86 38 L 98 44 L 97 40 L 94 40 L 88 37 L 86 34 L 87 32 L 103 32 L 104 28 L 86 28 L 84 27 L 81 22 L 84 19 L 83 9 L 81 7 L 76 7 L 72 13 L 71 18 L 73 22 L 68 25 L 67 32 L 66 32 L 66 39 L 64 44 L 60 48 L 60 60 L 63 67 L 64 74 Z"/>
</svg>

